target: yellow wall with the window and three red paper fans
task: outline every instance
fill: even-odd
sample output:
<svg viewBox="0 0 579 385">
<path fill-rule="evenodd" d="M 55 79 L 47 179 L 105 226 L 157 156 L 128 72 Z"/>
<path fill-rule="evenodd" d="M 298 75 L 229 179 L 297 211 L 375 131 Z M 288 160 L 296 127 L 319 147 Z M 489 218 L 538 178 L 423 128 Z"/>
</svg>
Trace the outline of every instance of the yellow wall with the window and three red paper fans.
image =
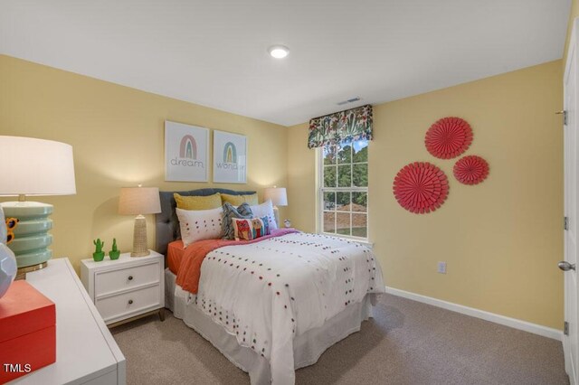
<svg viewBox="0 0 579 385">
<path fill-rule="evenodd" d="M 563 323 L 562 65 L 552 61 L 374 108 L 369 147 L 369 238 L 387 286 L 557 329 Z M 455 160 L 423 145 L 441 117 L 473 128 L 468 155 L 483 156 L 489 178 L 477 186 L 452 176 Z M 306 124 L 289 128 L 289 218 L 315 230 L 315 151 Z M 440 210 L 418 215 L 394 199 L 395 174 L 429 161 L 449 176 Z M 296 204 L 298 202 L 298 204 Z M 437 262 L 448 263 L 446 275 Z"/>
</svg>

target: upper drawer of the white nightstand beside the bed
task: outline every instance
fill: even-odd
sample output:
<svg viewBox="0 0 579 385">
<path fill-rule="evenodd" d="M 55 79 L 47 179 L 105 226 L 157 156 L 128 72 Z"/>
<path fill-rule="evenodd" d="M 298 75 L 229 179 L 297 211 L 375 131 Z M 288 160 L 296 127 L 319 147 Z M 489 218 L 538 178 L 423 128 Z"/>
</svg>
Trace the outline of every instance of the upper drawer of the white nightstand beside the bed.
<svg viewBox="0 0 579 385">
<path fill-rule="evenodd" d="M 100 271 L 94 278 L 95 297 L 159 282 L 161 271 L 158 260 L 146 265 Z"/>
</svg>

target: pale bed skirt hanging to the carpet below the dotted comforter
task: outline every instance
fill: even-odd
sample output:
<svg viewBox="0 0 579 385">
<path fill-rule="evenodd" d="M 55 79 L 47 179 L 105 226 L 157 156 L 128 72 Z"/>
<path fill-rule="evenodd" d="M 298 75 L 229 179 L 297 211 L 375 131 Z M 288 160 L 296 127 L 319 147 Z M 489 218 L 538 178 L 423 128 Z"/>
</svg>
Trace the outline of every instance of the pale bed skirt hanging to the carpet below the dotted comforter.
<svg viewBox="0 0 579 385">
<path fill-rule="evenodd" d="M 249 373 L 252 385 L 270 384 L 270 362 L 252 349 L 237 343 L 235 335 L 227 333 L 223 326 L 215 324 L 195 305 L 195 295 L 185 292 L 175 281 L 176 275 L 166 268 L 165 305 L 173 315 L 195 329 L 235 366 Z M 323 326 L 296 336 L 293 342 L 295 369 L 318 362 L 319 356 L 327 348 L 349 334 L 358 332 L 362 321 L 372 317 L 373 304 L 375 294 L 368 294 L 362 302 L 349 305 L 342 313 L 327 320 Z"/>
</svg>

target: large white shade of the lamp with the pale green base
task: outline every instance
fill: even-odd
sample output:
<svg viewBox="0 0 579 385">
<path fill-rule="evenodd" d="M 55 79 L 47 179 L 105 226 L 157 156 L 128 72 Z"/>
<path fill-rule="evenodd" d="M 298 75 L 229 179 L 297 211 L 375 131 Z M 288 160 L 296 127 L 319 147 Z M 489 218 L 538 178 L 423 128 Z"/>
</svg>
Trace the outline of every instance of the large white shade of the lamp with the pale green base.
<svg viewBox="0 0 579 385">
<path fill-rule="evenodd" d="M 76 193 L 72 146 L 52 140 L 0 136 L 0 195 Z"/>
</svg>

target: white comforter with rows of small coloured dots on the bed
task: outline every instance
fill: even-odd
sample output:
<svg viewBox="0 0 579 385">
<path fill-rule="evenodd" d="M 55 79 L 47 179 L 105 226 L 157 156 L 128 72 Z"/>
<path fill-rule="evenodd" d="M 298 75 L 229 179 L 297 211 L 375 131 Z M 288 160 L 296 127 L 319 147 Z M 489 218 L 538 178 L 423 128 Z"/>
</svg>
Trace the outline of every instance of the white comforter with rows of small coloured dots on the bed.
<svg viewBox="0 0 579 385">
<path fill-rule="evenodd" d="M 382 271 L 359 243 L 308 233 L 215 249 L 201 267 L 196 304 L 242 346 L 271 362 L 275 385 L 293 384 L 293 338 L 367 293 Z"/>
</svg>

